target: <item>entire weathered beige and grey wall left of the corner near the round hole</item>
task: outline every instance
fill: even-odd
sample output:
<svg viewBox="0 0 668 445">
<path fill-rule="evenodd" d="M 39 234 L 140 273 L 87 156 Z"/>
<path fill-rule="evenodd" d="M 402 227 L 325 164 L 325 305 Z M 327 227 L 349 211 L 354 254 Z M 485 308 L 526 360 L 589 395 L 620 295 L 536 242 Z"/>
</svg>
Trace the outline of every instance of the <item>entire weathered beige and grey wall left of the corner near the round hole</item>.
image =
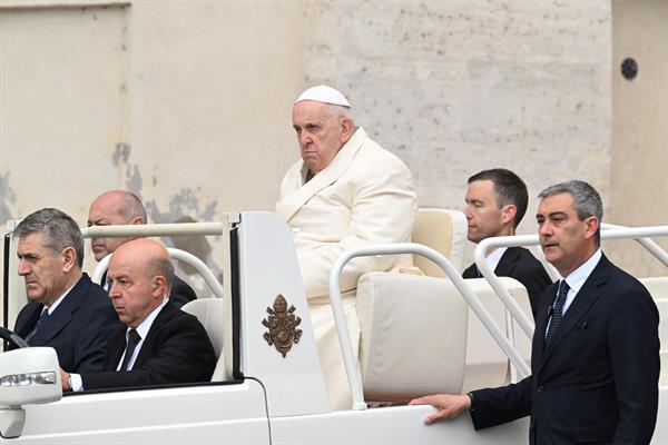
<svg viewBox="0 0 668 445">
<path fill-rule="evenodd" d="M 608 200 L 611 44 L 608 1 L 4 0 L 0 217 L 84 224 L 109 188 L 158 222 L 271 210 L 297 158 L 292 101 L 318 82 L 406 161 L 422 206 L 461 208 L 495 166 L 532 195 L 582 178 Z"/>
</svg>

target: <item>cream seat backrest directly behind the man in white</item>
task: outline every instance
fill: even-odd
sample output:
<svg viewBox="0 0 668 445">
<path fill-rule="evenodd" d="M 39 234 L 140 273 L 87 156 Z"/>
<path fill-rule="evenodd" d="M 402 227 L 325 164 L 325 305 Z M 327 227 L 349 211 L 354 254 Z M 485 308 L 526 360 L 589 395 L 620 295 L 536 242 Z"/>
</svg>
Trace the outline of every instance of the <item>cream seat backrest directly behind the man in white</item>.
<svg viewBox="0 0 668 445">
<path fill-rule="evenodd" d="M 420 208 L 415 216 L 412 234 L 413 243 L 423 244 L 436 250 L 462 271 L 466 248 L 466 217 L 458 210 Z M 445 273 L 429 259 L 414 255 L 413 263 L 424 275 L 445 277 Z"/>
</svg>

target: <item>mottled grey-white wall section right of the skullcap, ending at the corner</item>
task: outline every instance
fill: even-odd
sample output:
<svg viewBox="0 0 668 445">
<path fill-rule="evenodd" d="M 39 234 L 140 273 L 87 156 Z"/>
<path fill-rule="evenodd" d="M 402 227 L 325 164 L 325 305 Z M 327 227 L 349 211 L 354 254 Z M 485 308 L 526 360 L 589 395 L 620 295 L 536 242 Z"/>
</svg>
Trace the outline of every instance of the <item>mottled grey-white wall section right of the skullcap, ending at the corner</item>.
<svg viewBox="0 0 668 445">
<path fill-rule="evenodd" d="M 422 206 L 462 208 L 466 178 L 492 167 L 531 196 L 576 178 L 609 196 L 608 2 L 321 2 L 306 17 L 307 79 L 348 92 Z M 534 214 L 531 200 L 520 233 Z"/>
</svg>

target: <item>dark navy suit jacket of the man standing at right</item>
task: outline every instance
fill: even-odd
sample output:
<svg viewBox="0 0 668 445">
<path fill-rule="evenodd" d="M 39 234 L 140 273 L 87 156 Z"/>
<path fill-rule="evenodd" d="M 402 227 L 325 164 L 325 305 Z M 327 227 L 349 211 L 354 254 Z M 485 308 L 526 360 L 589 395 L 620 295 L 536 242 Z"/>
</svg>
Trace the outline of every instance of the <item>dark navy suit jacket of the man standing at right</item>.
<svg viewBox="0 0 668 445">
<path fill-rule="evenodd" d="M 473 392 L 477 429 L 531 415 L 530 443 L 649 444 L 658 407 L 659 315 L 647 289 L 605 256 L 543 350 L 546 290 L 531 354 L 532 376 Z"/>
</svg>

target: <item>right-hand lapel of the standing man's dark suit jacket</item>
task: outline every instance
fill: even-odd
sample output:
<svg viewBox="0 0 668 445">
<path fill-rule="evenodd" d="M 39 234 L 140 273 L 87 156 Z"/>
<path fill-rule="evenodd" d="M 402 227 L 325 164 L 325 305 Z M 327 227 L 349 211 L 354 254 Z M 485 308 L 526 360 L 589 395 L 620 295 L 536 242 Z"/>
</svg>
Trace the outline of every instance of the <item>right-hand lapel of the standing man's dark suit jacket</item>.
<svg viewBox="0 0 668 445">
<path fill-rule="evenodd" d="M 571 303 L 570 307 L 561 318 L 561 324 L 554 333 L 554 336 L 550 340 L 550 344 L 543 352 L 541 368 L 548 362 L 550 356 L 554 353 L 554 350 L 559 347 L 559 344 L 563 338 L 570 333 L 576 326 L 578 326 L 580 319 L 589 312 L 591 306 L 597 301 L 600 297 L 601 291 L 600 287 L 608 279 L 608 265 L 609 261 L 606 256 L 601 256 L 599 264 L 591 271 L 591 275 L 587 278 L 576 298 Z M 544 338 L 544 329 L 547 328 L 547 323 L 543 326 L 543 338 Z"/>
</svg>

